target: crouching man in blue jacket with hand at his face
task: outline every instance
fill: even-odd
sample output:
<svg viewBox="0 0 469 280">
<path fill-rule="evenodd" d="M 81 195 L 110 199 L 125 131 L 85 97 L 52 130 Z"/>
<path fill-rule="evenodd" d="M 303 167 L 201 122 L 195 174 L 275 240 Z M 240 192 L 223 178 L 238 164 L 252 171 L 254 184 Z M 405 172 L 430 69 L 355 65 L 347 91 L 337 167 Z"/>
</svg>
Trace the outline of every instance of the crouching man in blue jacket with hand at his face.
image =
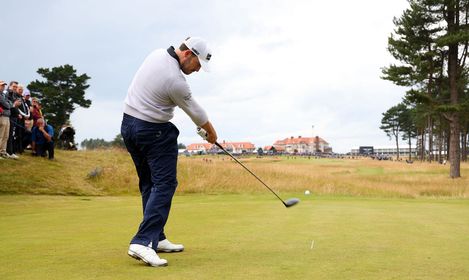
<svg viewBox="0 0 469 280">
<path fill-rule="evenodd" d="M 52 127 L 48 124 L 45 124 L 43 118 L 38 119 L 38 125 L 32 129 L 32 155 L 45 157 L 47 156 L 46 151 L 48 151 L 49 159 L 54 160 L 54 142 L 52 140 L 53 136 L 54 131 Z"/>
</svg>

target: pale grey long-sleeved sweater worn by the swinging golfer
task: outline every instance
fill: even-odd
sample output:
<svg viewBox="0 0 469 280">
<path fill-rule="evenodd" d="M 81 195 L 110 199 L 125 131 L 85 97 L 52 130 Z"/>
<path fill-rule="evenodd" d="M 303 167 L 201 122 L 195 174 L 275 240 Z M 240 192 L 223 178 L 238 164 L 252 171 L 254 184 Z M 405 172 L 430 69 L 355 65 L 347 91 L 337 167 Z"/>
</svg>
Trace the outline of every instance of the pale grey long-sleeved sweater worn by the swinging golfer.
<svg viewBox="0 0 469 280">
<path fill-rule="evenodd" d="M 167 122 L 174 116 L 174 107 L 179 106 L 197 126 L 208 121 L 176 59 L 172 48 L 158 49 L 145 59 L 127 91 L 125 114 L 144 121 Z"/>
</svg>

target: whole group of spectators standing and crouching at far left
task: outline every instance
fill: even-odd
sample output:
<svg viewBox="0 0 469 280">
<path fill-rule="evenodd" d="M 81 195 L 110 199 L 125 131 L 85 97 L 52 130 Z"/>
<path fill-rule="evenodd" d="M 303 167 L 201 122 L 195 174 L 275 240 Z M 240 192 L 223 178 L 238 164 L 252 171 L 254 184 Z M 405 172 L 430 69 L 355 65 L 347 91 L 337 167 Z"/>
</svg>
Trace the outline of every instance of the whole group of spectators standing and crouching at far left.
<svg viewBox="0 0 469 280">
<path fill-rule="evenodd" d="M 0 80 L 0 160 L 19 159 L 24 150 L 54 159 L 52 126 L 42 116 L 42 104 L 18 82 Z M 31 99 L 31 100 L 30 100 Z"/>
</svg>

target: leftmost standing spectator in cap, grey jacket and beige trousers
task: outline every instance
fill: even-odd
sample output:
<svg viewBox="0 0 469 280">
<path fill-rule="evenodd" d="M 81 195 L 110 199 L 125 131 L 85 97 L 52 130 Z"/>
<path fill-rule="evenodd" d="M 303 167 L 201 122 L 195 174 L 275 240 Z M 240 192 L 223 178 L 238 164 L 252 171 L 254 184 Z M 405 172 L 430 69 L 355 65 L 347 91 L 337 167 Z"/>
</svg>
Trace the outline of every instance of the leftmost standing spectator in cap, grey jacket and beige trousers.
<svg viewBox="0 0 469 280">
<path fill-rule="evenodd" d="M 10 108 L 15 107 L 16 104 L 19 102 L 10 102 L 7 98 L 8 91 L 5 90 L 5 83 L 4 81 L 0 80 L 0 106 L 2 108 L 2 113 L 0 117 L 0 156 L 3 158 L 13 158 L 7 153 L 7 144 L 8 144 L 8 137 L 10 133 Z"/>
</svg>

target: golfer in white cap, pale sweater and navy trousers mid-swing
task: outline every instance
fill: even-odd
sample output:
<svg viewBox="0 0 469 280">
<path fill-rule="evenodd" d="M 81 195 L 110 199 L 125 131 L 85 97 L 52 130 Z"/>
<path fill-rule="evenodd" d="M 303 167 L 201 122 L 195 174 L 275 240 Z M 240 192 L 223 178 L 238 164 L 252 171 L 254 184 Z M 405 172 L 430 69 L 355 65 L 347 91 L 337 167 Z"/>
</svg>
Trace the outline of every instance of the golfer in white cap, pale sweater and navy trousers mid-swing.
<svg viewBox="0 0 469 280">
<path fill-rule="evenodd" d="M 197 134 L 204 140 L 217 141 L 205 110 L 182 75 L 200 68 L 210 72 L 211 57 L 212 49 L 200 37 L 187 38 L 179 49 L 170 46 L 154 51 L 138 69 L 124 101 L 121 135 L 137 170 L 144 212 L 127 253 L 151 266 L 168 265 L 156 252 L 184 250 L 182 245 L 169 242 L 163 230 L 177 186 L 179 130 L 169 122 L 174 107 L 182 108 L 202 128 Z"/>
</svg>

